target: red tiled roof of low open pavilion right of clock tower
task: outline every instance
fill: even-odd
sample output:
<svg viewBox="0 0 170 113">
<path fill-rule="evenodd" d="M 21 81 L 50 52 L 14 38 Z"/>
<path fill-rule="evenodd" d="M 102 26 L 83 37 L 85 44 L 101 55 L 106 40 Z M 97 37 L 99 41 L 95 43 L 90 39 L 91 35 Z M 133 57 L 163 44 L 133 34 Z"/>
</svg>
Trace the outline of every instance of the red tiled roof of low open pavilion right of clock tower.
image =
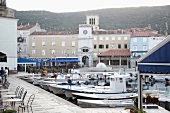
<svg viewBox="0 0 170 113">
<path fill-rule="evenodd" d="M 98 56 L 113 56 L 113 57 L 130 57 L 131 53 L 128 49 L 112 49 L 99 54 Z"/>
</svg>

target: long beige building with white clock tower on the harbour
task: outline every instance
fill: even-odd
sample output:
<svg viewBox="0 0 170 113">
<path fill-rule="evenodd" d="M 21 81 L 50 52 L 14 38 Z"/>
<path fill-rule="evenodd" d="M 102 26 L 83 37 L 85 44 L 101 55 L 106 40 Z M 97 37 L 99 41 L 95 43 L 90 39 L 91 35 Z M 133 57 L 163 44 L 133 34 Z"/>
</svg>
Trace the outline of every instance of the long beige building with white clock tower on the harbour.
<svg viewBox="0 0 170 113">
<path fill-rule="evenodd" d="M 129 50 L 130 33 L 120 30 L 99 28 L 99 15 L 86 15 L 86 24 L 80 24 L 78 31 L 34 32 L 29 36 L 29 55 L 31 59 L 77 58 L 80 66 L 93 67 L 99 62 L 106 65 L 127 65 L 130 51 L 121 56 L 121 50 Z M 98 55 L 108 50 L 117 50 L 116 57 Z M 121 58 L 120 58 L 121 57 Z M 104 58 L 104 59 L 103 59 Z M 126 63 L 115 63 L 120 62 Z M 109 63 L 110 62 L 110 63 Z M 53 62 L 53 65 L 56 62 Z M 58 62 L 62 64 L 64 62 Z"/>
</svg>

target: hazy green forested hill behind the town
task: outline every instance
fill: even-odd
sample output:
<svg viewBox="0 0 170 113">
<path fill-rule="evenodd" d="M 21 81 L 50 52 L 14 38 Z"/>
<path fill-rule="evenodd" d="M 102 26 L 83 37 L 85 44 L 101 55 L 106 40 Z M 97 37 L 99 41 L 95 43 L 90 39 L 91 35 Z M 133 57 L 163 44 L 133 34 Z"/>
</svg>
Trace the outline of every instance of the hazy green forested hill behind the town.
<svg viewBox="0 0 170 113">
<path fill-rule="evenodd" d="M 16 11 L 18 25 L 38 22 L 46 30 L 78 30 L 86 21 L 86 14 L 98 14 L 100 28 L 107 30 L 146 27 L 170 33 L 170 6 L 109 8 L 81 12 L 53 13 L 49 11 Z"/>
</svg>

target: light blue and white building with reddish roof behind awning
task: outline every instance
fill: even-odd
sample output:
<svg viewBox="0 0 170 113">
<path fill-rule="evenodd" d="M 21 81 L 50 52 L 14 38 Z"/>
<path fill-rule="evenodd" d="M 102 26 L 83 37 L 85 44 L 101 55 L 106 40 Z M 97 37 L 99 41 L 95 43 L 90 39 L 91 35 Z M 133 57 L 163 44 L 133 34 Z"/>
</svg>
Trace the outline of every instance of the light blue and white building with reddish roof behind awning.
<svg viewBox="0 0 170 113">
<path fill-rule="evenodd" d="M 165 35 L 148 30 L 132 32 L 130 38 L 131 67 L 136 67 L 136 61 L 165 38 Z"/>
</svg>

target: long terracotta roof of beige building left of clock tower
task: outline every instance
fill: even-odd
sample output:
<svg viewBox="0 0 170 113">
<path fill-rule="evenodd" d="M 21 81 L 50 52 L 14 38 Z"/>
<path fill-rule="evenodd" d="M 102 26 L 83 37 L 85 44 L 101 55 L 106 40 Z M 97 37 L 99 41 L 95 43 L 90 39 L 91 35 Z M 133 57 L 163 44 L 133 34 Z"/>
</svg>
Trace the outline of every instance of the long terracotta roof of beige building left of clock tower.
<svg viewBox="0 0 170 113">
<path fill-rule="evenodd" d="M 47 32 L 33 32 L 31 35 L 70 35 L 78 34 L 78 31 L 47 31 Z"/>
</svg>

